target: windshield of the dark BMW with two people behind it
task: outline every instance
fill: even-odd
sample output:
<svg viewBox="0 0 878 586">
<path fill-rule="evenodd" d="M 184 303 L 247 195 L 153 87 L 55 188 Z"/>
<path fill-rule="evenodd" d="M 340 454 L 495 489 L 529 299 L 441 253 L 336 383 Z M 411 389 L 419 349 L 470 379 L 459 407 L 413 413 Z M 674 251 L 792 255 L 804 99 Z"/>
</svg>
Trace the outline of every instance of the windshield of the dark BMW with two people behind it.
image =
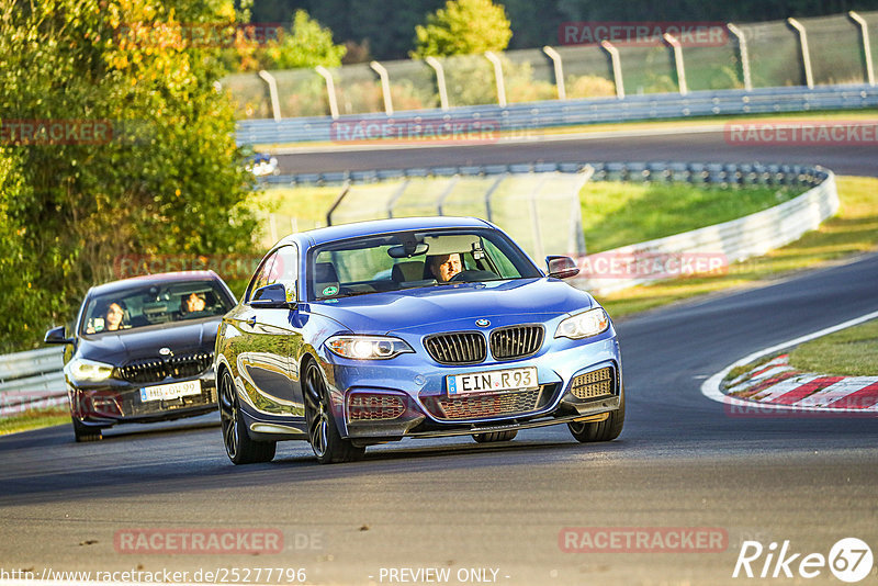
<svg viewBox="0 0 878 586">
<path fill-rule="evenodd" d="M 81 334 L 103 334 L 224 315 L 233 307 L 216 281 L 140 285 L 89 300 Z"/>
</svg>

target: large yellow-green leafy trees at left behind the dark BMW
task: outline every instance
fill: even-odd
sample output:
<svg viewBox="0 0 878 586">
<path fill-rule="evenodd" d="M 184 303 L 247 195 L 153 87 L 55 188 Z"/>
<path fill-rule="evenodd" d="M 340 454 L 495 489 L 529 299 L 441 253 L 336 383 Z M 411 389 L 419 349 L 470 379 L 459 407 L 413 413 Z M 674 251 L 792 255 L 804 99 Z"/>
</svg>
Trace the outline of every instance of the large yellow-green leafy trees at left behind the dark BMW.
<svg viewBox="0 0 878 586">
<path fill-rule="evenodd" d="M 216 47 L 225 0 L 2 0 L 0 351 L 68 322 L 120 255 L 245 251 L 256 223 Z M 111 128 L 14 138 L 15 121 Z M 10 138 L 13 136 L 13 138 Z M 245 250 L 241 250 L 245 249 Z"/>
</svg>

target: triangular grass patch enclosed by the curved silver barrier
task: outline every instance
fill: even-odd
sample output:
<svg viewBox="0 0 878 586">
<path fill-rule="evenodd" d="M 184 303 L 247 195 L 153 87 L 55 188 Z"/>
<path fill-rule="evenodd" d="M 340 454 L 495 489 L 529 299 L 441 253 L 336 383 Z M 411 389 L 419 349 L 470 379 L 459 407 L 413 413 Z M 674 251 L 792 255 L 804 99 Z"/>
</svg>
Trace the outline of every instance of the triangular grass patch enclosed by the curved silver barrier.
<svg viewBox="0 0 878 586">
<path fill-rule="evenodd" d="M 579 193 L 589 252 L 643 243 L 767 210 L 800 194 L 787 188 L 596 181 Z"/>
</svg>

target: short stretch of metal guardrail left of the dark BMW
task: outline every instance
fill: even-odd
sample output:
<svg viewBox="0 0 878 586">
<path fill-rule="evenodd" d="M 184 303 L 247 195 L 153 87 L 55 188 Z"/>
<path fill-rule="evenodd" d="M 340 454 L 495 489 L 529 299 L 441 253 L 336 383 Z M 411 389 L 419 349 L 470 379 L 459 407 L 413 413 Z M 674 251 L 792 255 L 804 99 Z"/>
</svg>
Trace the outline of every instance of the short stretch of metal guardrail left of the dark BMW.
<svg viewBox="0 0 878 586">
<path fill-rule="evenodd" d="M 0 356 L 0 416 L 67 403 L 64 349 Z"/>
</svg>

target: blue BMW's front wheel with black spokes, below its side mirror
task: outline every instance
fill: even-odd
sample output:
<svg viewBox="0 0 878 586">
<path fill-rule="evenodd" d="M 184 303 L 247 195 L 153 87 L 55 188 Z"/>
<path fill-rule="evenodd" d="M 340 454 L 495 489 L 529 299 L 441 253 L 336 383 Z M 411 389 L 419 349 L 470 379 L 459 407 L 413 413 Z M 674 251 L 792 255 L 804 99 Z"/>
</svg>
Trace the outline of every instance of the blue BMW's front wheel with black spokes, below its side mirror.
<svg viewBox="0 0 878 586">
<path fill-rule="evenodd" d="M 308 442 L 317 462 L 336 464 L 362 459 L 365 447 L 354 446 L 338 432 L 336 418 L 329 403 L 329 391 L 323 382 L 320 368 L 308 361 L 305 368 L 305 421 Z"/>
</svg>

